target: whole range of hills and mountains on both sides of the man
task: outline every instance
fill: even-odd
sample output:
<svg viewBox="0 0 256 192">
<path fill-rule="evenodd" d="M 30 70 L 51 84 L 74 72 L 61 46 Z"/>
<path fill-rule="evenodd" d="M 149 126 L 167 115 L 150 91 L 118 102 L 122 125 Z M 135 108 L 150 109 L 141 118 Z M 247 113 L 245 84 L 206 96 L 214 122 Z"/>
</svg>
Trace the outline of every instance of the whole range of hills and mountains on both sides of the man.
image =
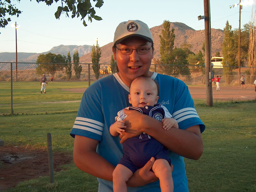
<svg viewBox="0 0 256 192">
<path fill-rule="evenodd" d="M 184 23 L 171 22 L 171 28 L 175 29 L 175 41 L 174 46 L 180 47 L 183 43 L 188 43 L 192 46 L 191 51 L 198 53 L 199 50 L 202 51 L 202 46 L 204 42 L 204 30 L 194 30 L 191 27 L 185 25 Z M 159 35 L 162 34 L 163 25 L 152 27 L 150 29 L 153 40 L 154 40 L 154 57 L 160 58 L 160 38 Z M 224 32 L 221 29 L 211 29 L 212 35 L 212 56 L 215 55 L 217 51 L 222 55 L 222 43 L 224 40 Z M 102 46 L 100 63 L 110 63 L 112 53 L 113 43 L 109 43 Z M 83 45 L 59 45 L 52 47 L 51 50 L 43 52 L 41 54 L 46 54 L 48 52 L 54 54 L 62 54 L 67 56 L 70 51 L 71 57 L 77 50 L 80 57 L 80 63 L 91 63 L 91 48 L 92 46 Z M 18 62 L 24 63 L 34 63 L 37 60 L 39 53 L 18 53 Z M 15 62 L 15 53 L 0 53 L 0 62 Z"/>
</svg>

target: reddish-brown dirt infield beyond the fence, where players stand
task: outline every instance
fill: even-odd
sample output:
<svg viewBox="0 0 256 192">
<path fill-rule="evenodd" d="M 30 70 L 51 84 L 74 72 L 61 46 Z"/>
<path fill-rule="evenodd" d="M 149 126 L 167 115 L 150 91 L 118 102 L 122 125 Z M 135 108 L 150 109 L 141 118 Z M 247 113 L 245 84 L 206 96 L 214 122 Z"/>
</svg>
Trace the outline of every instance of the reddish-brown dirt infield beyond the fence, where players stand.
<svg viewBox="0 0 256 192">
<path fill-rule="evenodd" d="M 65 91 L 83 93 L 86 88 L 64 89 Z M 188 87 L 192 98 L 205 99 L 206 89 L 204 86 Z M 220 91 L 213 88 L 213 101 L 232 101 L 232 100 L 253 100 L 256 99 L 255 87 L 241 88 L 240 86 L 220 87 Z"/>
</svg>

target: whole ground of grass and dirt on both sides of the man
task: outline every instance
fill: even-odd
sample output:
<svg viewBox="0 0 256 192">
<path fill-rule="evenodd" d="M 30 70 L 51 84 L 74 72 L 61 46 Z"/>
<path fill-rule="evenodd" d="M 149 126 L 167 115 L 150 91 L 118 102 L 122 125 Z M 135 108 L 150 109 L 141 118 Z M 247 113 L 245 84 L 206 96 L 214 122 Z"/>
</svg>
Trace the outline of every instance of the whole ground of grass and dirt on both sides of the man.
<svg viewBox="0 0 256 192">
<path fill-rule="evenodd" d="M 97 180 L 76 168 L 69 135 L 87 82 L 0 83 L 0 191 L 97 191 Z M 204 87 L 189 87 L 195 108 L 206 125 L 204 153 L 186 159 L 190 192 L 256 191 L 256 100 L 254 87 L 213 89 L 206 106 Z M 232 98 L 232 99 L 228 99 Z M 47 133 L 52 135 L 54 183 L 49 181 Z"/>
</svg>

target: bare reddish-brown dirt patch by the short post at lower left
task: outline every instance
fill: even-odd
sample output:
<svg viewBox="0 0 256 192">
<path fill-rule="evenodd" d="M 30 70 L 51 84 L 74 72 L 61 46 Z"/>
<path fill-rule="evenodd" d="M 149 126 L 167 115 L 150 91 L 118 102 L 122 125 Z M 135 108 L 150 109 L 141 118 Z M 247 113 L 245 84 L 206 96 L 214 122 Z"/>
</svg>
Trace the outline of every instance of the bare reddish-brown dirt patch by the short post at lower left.
<svg viewBox="0 0 256 192">
<path fill-rule="evenodd" d="M 73 162 L 71 154 L 53 153 L 53 169 Z M 49 175 L 47 148 L 33 146 L 0 146 L 0 191 L 19 182 Z"/>
</svg>

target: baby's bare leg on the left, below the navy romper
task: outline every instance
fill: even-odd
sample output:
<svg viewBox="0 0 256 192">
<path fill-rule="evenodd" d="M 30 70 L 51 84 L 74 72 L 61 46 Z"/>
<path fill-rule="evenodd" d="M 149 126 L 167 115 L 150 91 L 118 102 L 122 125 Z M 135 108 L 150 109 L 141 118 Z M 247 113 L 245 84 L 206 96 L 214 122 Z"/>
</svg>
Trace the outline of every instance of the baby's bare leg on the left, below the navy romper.
<svg viewBox="0 0 256 192">
<path fill-rule="evenodd" d="M 114 192 L 127 192 L 126 181 L 133 175 L 126 166 L 118 164 L 113 171 Z"/>
</svg>

